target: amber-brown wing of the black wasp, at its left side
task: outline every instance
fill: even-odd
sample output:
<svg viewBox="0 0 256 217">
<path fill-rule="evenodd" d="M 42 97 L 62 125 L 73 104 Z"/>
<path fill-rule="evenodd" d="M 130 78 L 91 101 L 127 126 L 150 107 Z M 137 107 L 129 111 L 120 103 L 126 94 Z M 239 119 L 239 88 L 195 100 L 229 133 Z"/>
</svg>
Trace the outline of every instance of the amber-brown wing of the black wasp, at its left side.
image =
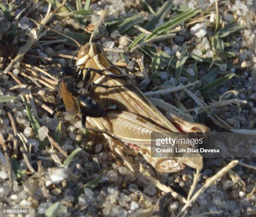
<svg viewBox="0 0 256 217">
<path fill-rule="evenodd" d="M 64 102 L 69 119 L 74 118 L 76 114 L 79 114 L 79 106 L 77 99 L 68 91 L 67 84 L 64 80 L 60 81 L 59 94 Z"/>
</svg>

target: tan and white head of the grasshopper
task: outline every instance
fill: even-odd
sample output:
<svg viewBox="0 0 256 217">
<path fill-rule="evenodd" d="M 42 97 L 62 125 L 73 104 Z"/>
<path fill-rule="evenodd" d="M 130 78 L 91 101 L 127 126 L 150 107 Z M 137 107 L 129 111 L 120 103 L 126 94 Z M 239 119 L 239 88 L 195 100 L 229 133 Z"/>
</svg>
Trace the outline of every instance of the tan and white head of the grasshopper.
<svg viewBox="0 0 256 217">
<path fill-rule="evenodd" d="M 76 65 L 84 65 L 90 58 L 93 58 L 97 54 L 104 55 L 104 50 L 100 45 L 94 43 L 83 45 L 77 54 Z"/>
</svg>

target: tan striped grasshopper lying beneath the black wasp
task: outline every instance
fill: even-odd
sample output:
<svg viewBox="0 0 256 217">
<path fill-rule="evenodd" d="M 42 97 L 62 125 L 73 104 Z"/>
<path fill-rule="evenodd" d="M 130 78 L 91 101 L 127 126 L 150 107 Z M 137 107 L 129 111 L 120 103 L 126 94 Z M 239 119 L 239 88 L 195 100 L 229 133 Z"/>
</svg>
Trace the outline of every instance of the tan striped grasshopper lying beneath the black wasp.
<svg viewBox="0 0 256 217">
<path fill-rule="evenodd" d="M 96 44 L 85 44 L 78 52 L 76 66 L 83 69 L 83 79 L 88 78 L 90 96 L 105 109 L 108 116 L 87 117 L 87 124 L 101 131 L 109 132 L 104 136 L 109 140 L 110 148 L 115 149 L 123 159 L 117 144 L 120 141 L 138 151 L 160 172 L 176 172 L 187 164 L 193 168 L 202 167 L 202 158 L 159 159 L 151 157 L 152 132 L 206 132 L 202 124 L 184 121 L 176 116 L 167 119 L 141 91 L 134 86 L 127 76 L 116 68 L 107 58 L 103 49 Z M 90 69 L 90 70 L 88 70 Z M 102 71 L 104 75 L 95 73 Z M 113 87 L 115 86 L 115 87 Z M 113 87 L 113 88 L 111 88 Z M 114 110 L 111 108 L 115 108 Z M 118 138 L 116 141 L 114 138 Z M 126 162 L 127 163 L 127 162 Z M 131 165 L 128 164 L 131 168 Z M 132 168 L 131 168 L 132 169 Z"/>
</svg>

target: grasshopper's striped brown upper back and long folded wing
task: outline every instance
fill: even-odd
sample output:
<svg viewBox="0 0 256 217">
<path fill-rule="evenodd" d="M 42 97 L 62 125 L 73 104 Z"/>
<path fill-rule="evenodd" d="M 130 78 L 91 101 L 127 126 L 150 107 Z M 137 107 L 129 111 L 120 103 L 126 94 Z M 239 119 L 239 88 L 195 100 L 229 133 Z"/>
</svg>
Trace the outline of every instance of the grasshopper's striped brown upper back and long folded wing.
<svg viewBox="0 0 256 217">
<path fill-rule="evenodd" d="M 108 75 L 122 75 L 122 73 L 113 66 L 102 54 L 90 58 L 85 64 L 85 68 L 95 68 L 102 70 Z M 122 86 L 116 88 L 102 88 L 95 86 L 92 90 L 92 98 L 97 100 L 103 108 L 108 108 L 113 104 L 117 110 L 128 111 L 147 119 L 148 122 L 169 131 L 179 132 L 175 126 L 126 78 L 111 78 L 110 76 L 101 76 L 94 73 L 90 82 L 106 86 Z"/>
</svg>

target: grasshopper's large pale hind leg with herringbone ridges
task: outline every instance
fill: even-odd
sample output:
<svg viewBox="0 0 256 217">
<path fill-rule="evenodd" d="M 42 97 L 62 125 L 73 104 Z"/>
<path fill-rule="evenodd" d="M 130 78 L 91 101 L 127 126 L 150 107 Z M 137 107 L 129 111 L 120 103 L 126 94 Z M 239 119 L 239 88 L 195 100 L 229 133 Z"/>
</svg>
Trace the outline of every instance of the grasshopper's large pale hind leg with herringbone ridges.
<svg viewBox="0 0 256 217">
<path fill-rule="evenodd" d="M 111 111 L 108 112 L 108 120 L 105 118 L 88 120 L 93 121 L 93 124 L 103 131 L 107 130 L 104 123 L 110 121 L 113 136 L 118 137 L 118 139 L 130 146 L 130 148 L 142 154 L 159 172 L 177 172 L 184 168 L 184 164 L 195 169 L 202 168 L 203 162 L 200 154 L 190 154 L 190 157 L 181 158 L 151 157 L 151 133 L 158 132 L 165 134 L 167 131 L 163 131 L 163 129 L 154 124 L 146 123 L 146 120 L 136 114 L 126 111 Z M 170 134 L 168 133 L 166 136 L 170 136 Z"/>
</svg>

